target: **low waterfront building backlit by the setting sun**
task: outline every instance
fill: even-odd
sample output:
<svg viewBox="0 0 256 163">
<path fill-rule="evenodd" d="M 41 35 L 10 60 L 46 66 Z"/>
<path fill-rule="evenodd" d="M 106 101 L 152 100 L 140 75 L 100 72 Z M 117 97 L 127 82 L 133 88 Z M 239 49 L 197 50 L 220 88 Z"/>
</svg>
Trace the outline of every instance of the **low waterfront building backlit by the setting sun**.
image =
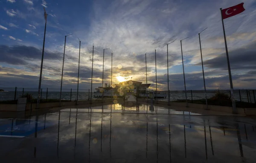
<svg viewBox="0 0 256 163">
<path fill-rule="evenodd" d="M 105 87 L 98 87 L 94 92 L 95 97 L 101 97 L 104 91 L 104 96 L 123 96 L 124 93 L 146 93 L 146 89 L 150 86 L 150 84 L 142 84 L 142 82 L 137 81 L 125 81 L 120 82 L 119 84 L 105 84 Z"/>
</svg>

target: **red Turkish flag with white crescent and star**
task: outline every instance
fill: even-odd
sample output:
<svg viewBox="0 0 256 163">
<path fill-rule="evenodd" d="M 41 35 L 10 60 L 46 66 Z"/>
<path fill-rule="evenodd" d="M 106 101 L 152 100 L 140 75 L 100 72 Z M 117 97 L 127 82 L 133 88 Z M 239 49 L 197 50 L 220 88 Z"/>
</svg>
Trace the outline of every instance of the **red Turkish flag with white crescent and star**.
<svg viewBox="0 0 256 163">
<path fill-rule="evenodd" d="M 243 5 L 244 3 L 240 3 L 236 6 L 221 9 L 222 19 L 227 19 L 228 17 L 233 17 L 237 14 L 240 14 L 245 10 Z"/>
</svg>

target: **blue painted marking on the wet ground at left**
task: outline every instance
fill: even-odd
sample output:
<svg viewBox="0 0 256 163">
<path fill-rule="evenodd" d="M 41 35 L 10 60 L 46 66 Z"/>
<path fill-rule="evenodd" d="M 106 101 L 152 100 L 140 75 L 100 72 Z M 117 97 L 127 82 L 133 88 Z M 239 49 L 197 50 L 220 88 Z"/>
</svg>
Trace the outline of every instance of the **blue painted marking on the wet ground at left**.
<svg viewBox="0 0 256 163">
<path fill-rule="evenodd" d="M 39 132 L 42 129 L 46 129 L 49 126 L 52 126 L 53 123 L 45 122 L 44 120 L 23 120 L 23 119 L 13 119 L 8 121 L 2 121 L 0 124 L 0 135 L 9 135 L 9 136 L 28 136 L 36 131 Z"/>
</svg>

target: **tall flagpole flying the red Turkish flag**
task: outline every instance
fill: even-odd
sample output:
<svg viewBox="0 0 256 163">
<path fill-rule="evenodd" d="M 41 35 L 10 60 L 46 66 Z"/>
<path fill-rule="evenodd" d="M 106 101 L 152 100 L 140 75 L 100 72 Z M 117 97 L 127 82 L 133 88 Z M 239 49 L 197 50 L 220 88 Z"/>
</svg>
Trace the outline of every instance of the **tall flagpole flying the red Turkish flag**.
<svg viewBox="0 0 256 163">
<path fill-rule="evenodd" d="M 220 8 L 220 10 L 222 10 L 222 8 Z M 235 98 L 234 98 L 232 75 L 231 75 L 231 70 L 230 70 L 230 61 L 229 61 L 229 56 L 228 56 L 228 51 L 227 51 L 227 39 L 226 39 L 226 33 L 225 33 L 225 27 L 224 27 L 224 21 L 223 21 L 222 13 L 221 13 L 221 21 L 222 21 L 225 48 L 226 48 L 226 55 L 227 55 L 228 75 L 229 75 L 229 79 L 230 79 L 230 94 L 231 94 L 231 101 L 232 101 L 232 110 L 233 110 L 233 114 L 237 114 L 236 101 L 235 101 Z"/>
</svg>

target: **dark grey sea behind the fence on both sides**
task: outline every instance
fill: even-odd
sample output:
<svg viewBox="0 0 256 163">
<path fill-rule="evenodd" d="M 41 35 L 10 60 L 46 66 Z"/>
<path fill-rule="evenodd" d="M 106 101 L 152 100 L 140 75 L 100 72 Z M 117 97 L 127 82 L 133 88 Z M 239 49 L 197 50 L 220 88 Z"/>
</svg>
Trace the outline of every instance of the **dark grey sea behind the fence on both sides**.
<svg viewBox="0 0 256 163">
<path fill-rule="evenodd" d="M 15 88 L 0 88 L 3 89 L 4 92 L 0 92 L 0 101 L 6 101 L 6 100 L 14 100 L 20 97 L 22 94 L 29 93 L 32 94 L 34 98 L 37 98 L 37 89 L 35 88 L 17 88 L 16 91 L 16 97 L 15 97 Z M 89 99 L 89 91 L 90 90 L 79 90 L 78 93 L 78 100 L 88 100 Z M 212 96 L 215 95 L 216 90 L 207 90 L 207 98 L 211 98 Z M 226 93 L 227 95 L 230 95 L 229 90 L 221 90 L 221 92 Z M 256 91 L 254 91 L 256 93 Z M 165 93 L 165 92 L 160 92 L 160 93 Z M 92 98 L 95 99 L 94 97 L 94 92 L 92 92 Z M 204 90 L 188 90 L 187 93 L 187 99 L 189 100 L 196 100 L 196 99 L 204 99 L 205 98 L 205 93 Z M 176 100 L 182 100 L 186 99 L 186 95 L 184 91 L 170 91 L 170 101 L 176 101 Z M 245 102 L 251 102 L 255 103 L 255 94 L 253 94 L 252 90 L 240 90 L 240 95 L 241 95 L 241 101 Z M 76 89 L 63 89 L 61 93 L 61 99 L 63 100 L 71 100 L 74 101 L 76 100 L 77 96 L 77 91 Z M 240 101 L 240 96 L 239 96 L 239 90 L 234 90 L 234 96 L 237 101 Z M 53 88 L 53 89 L 42 89 L 42 99 L 50 98 L 50 99 L 59 99 L 60 98 L 60 92 L 59 90 Z M 168 101 L 168 98 L 160 98 L 159 100 L 166 100 Z"/>
</svg>

